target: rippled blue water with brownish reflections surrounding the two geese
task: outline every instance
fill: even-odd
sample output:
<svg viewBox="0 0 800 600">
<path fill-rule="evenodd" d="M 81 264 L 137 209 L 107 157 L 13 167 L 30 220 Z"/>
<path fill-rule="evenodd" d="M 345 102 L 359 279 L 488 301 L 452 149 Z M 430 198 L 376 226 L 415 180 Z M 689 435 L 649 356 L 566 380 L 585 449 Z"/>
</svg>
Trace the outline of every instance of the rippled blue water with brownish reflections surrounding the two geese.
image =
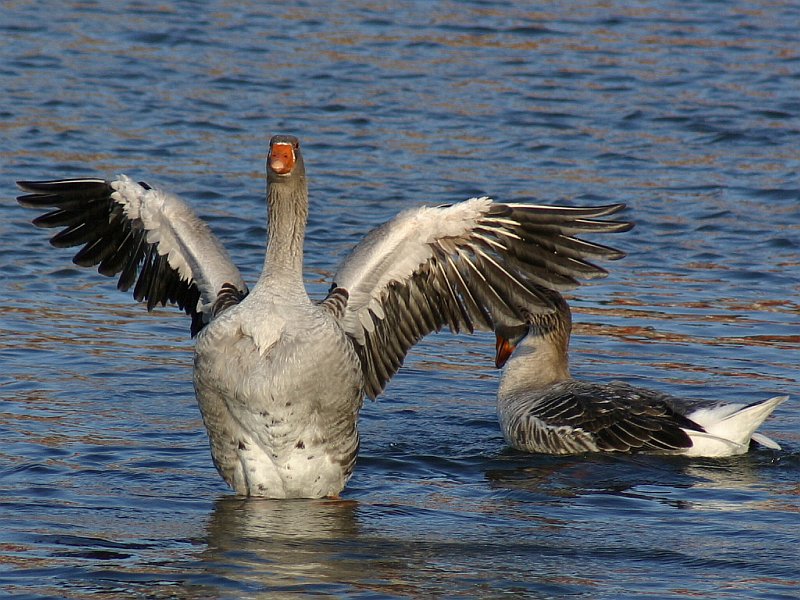
<svg viewBox="0 0 800 600">
<path fill-rule="evenodd" d="M 796 597 L 795 4 L 10 0 L 0 17 L 0 593 Z M 365 406 L 343 501 L 232 496 L 188 321 L 72 268 L 12 182 L 168 187 L 252 282 L 276 132 L 305 147 L 317 295 L 407 206 L 626 202 L 628 257 L 571 296 L 575 375 L 790 394 L 764 426 L 783 450 L 511 452 L 492 338 L 439 335 Z"/>
</svg>

